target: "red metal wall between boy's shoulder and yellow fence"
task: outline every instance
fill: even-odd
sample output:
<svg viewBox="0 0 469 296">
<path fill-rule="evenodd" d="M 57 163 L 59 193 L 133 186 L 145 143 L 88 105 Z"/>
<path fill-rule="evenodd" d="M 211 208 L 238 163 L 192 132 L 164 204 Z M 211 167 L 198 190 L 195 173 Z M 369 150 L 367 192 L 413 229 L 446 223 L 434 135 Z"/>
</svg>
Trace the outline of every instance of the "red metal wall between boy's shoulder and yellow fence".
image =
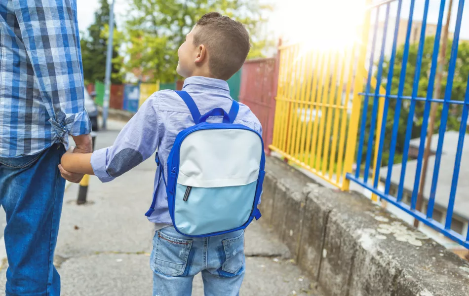
<svg viewBox="0 0 469 296">
<path fill-rule="evenodd" d="M 259 118 L 266 153 L 270 153 L 269 145 L 272 144 L 274 134 L 277 76 L 276 58 L 248 60 L 241 73 L 239 101 Z"/>
</svg>

